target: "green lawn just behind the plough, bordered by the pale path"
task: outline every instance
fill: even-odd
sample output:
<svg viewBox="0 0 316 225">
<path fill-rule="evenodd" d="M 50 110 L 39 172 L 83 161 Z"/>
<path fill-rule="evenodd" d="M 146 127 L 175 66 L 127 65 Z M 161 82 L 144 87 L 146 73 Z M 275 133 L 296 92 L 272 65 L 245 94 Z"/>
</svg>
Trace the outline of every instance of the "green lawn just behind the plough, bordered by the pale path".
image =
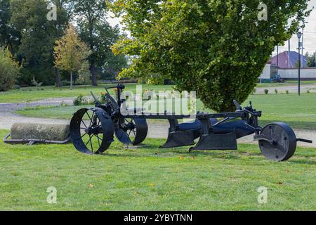
<svg viewBox="0 0 316 225">
<path fill-rule="evenodd" d="M 249 101 L 253 102 L 257 110 L 263 110 L 263 117 L 260 118 L 261 125 L 282 121 L 287 122 L 296 129 L 316 130 L 316 94 L 303 94 L 302 96 L 297 96 L 296 94 L 251 95 L 244 105 Z M 19 110 L 17 113 L 28 117 L 68 120 L 74 112 L 82 107 L 86 106 L 30 108 Z M 197 108 L 204 112 L 210 112 L 203 108 L 201 101 L 198 101 Z M 158 121 L 153 120 L 153 122 Z"/>
</svg>

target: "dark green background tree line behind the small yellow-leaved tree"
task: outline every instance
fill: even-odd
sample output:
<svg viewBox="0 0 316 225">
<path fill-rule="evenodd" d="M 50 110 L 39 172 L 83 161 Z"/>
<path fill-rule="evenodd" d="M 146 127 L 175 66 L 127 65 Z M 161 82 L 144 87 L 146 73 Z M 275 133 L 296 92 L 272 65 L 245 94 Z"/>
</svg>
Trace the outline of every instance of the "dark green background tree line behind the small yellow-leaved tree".
<svg viewBox="0 0 316 225">
<path fill-rule="evenodd" d="M 50 3 L 57 8 L 57 20 L 47 19 Z M 71 23 L 91 51 L 91 84 L 97 85 L 98 77 L 114 77 L 126 68 L 126 58 L 114 56 L 110 49 L 120 30 L 107 22 L 103 0 L 2 0 L 0 9 L 0 46 L 20 65 L 17 84 L 30 85 L 35 79 L 44 85 L 61 86 L 62 80 L 70 78 L 70 72 L 55 66 L 54 48 Z"/>
</svg>

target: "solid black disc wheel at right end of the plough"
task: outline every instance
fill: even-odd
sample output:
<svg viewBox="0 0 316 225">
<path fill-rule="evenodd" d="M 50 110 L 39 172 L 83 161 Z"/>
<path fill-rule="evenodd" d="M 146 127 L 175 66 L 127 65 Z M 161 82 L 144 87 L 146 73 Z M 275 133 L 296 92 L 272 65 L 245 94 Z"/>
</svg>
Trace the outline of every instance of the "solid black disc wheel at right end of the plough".
<svg viewBox="0 0 316 225">
<path fill-rule="evenodd" d="M 282 122 L 268 124 L 263 128 L 261 134 L 270 137 L 269 141 L 259 141 L 261 153 L 268 160 L 286 161 L 291 158 L 296 150 L 296 135 L 289 125 Z"/>
</svg>

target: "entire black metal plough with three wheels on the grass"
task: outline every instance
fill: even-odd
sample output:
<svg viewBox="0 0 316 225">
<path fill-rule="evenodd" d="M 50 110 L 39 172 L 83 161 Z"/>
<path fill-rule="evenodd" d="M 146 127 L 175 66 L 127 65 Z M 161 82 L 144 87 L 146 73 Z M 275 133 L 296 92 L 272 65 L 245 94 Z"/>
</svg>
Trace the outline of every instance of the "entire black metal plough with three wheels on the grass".
<svg viewBox="0 0 316 225">
<path fill-rule="evenodd" d="M 169 136 L 161 148 L 194 146 L 192 150 L 237 150 L 237 139 L 254 134 L 261 152 L 268 160 L 285 161 L 296 150 L 297 141 L 312 143 L 305 139 L 296 139 L 296 134 L 289 125 L 275 122 L 260 127 L 258 117 L 262 112 L 252 105 L 242 108 L 234 101 L 237 110 L 234 113 L 197 113 L 195 122 L 179 124 L 178 120 L 190 115 L 160 115 L 143 113 L 142 109 L 129 110 L 131 115 L 123 115 L 121 106 L 126 101 L 121 99 L 125 86 L 118 84 L 109 87 L 117 90 L 117 100 L 107 91 L 106 103 L 100 104 L 95 99 L 95 108 L 83 108 L 74 113 L 70 122 L 70 136 L 74 147 L 81 153 L 101 154 L 114 141 L 114 134 L 121 143 L 139 145 L 147 136 L 147 119 L 169 120 Z"/>
</svg>

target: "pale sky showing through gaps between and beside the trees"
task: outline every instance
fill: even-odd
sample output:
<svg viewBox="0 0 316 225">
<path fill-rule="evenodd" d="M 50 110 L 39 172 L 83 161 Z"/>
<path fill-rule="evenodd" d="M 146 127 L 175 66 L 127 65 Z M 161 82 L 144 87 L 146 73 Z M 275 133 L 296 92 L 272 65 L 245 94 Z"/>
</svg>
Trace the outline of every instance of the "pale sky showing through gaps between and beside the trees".
<svg viewBox="0 0 316 225">
<path fill-rule="evenodd" d="M 310 16 L 306 19 L 308 24 L 305 25 L 304 35 L 303 35 L 303 54 L 306 52 L 308 53 L 315 53 L 316 51 L 316 0 L 310 0 L 309 8 L 315 7 L 315 9 L 310 13 Z M 114 25 L 120 25 L 121 18 L 109 18 L 109 23 Z M 288 51 L 288 41 L 284 46 L 279 46 L 279 53 L 282 51 Z M 297 51 L 298 48 L 298 38 L 296 34 L 290 40 L 291 51 Z M 277 48 L 272 53 L 272 56 L 277 55 Z"/>
</svg>

